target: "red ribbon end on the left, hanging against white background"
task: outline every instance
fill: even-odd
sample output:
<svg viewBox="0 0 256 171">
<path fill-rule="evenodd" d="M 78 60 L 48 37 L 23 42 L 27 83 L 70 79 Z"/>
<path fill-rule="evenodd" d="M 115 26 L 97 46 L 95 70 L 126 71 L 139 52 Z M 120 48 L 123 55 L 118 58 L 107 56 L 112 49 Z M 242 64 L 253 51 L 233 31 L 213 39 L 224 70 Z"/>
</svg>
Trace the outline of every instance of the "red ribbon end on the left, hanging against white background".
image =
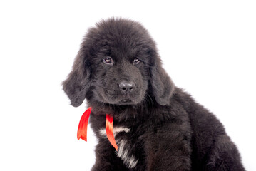
<svg viewBox="0 0 256 171">
<path fill-rule="evenodd" d="M 91 107 L 88 108 L 82 115 L 80 119 L 80 123 L 78 125 L 78 130 L 77 130 L 77 139 L 79 140 L 80 138 L 82 140 L 87 141 L 87 126 L 88 126 L 88 120 L 89 116 L 91 113 Z"/>
</svg>

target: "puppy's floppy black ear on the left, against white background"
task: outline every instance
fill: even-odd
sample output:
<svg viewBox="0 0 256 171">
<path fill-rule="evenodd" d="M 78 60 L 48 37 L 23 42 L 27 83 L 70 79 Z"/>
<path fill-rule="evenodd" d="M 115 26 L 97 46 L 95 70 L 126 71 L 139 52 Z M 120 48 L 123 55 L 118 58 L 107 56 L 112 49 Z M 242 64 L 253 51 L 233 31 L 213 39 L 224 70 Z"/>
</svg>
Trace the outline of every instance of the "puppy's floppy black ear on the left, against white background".
<svg viewBox="0 0 256 171">
<path fill-rule="evenodd" d="M 69 73 L 66 81 L 63 81 L 63 90 L 71 100 L 71 105 L 78 107 L 86 98 L 86 93 L 90 87 L 90 73 L 89 63 L 86 61 L 86 54 L 83 47 L 81 47 L 76 59 L 73 63 L 73 69 Z"/>
</svg>

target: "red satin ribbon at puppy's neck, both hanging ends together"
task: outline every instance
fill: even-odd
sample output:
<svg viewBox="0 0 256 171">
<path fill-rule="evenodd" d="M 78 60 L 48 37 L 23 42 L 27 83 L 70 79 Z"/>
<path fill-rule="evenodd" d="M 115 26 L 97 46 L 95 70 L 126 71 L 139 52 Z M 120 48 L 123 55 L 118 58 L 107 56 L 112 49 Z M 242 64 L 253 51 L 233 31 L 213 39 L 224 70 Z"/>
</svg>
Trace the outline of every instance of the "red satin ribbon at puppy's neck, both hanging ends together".
<svg viewBox="0 0 256 171">
<path fill-rule="evenodd" d="M 88 108 L 82 115 L 80 119 L 80 123 L 78 125 L 78 131 L 77 131 L 77 139 L 80 138 L 82 140 L 87 141 L 87 126 L 88 126 L 88 120 L 91 113 L 91 107 Z M 116 145 L 116 140 L 113 134 L 113 116 L 106 115 L 106 134 L 108 137 L 109 142 L 111 142 L 111 145 L 115 147 L 116 150 L 118 150 L 118 145 Z"/>
</svg>

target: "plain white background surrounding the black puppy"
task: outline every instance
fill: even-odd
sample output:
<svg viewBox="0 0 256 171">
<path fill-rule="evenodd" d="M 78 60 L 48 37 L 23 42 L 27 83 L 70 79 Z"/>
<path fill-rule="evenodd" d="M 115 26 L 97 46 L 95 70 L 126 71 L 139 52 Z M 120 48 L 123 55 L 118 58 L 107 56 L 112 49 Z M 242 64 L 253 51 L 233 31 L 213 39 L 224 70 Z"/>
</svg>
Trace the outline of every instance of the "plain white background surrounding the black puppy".
<svg viewBox="0 0 256 171">
<path fill-rule="evenodd" d="M 96 138 L 76 139 L 86 106 L 61 89 L 100 19 L 140 21 L 176 86 L 225 125 L 256 170 L 255 1 L 0 1 L 0 170 L 90 170 Z"/>
</svg>

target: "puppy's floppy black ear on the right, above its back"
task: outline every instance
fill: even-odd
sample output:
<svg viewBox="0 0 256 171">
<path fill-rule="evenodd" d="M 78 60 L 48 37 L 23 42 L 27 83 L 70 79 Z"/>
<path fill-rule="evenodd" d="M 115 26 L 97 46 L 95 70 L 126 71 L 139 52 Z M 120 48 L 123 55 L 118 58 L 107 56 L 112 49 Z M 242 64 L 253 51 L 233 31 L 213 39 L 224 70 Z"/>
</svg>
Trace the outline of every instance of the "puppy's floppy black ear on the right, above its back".
<svg viewBox="0 0 256 171">
<path fill-rule="evenodd" d="M 161 66 L 160 59 L 154 63 L 151 68 L 151 85 L 155 100 L 160 105 L 168 105 L 170 97 L 173 95 L 175 85 L 168 74 Z"/>
</svg>

